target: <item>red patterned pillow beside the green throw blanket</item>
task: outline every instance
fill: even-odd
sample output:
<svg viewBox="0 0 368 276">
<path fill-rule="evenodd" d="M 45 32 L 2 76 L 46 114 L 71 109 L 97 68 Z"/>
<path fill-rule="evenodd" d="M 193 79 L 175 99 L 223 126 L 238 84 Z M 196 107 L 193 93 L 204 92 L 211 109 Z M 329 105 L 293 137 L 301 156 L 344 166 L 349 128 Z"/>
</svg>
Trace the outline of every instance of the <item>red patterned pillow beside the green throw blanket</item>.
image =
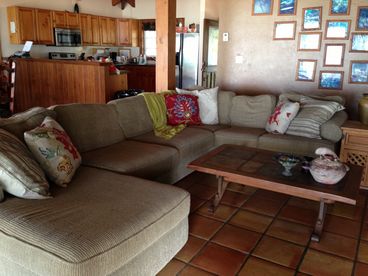
<svg viewBox="0 0 368 276">
<path fill-rule="evenodd" d="M 199 125 L 201 123 L 197 96 L 167 95 L 165 103 L 169 125 Z"/>
</svg>

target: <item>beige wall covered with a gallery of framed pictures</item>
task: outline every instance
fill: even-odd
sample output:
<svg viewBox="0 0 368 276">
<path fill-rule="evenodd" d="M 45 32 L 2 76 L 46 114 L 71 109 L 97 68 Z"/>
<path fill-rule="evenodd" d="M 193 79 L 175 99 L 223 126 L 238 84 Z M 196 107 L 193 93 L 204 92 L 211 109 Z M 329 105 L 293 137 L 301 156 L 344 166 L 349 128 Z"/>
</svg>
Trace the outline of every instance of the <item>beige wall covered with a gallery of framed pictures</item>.
<svg viewBox="0 0 368 276">
<path fill-rule="evenodd" d="M 223 89 L 343 94 L 354 118 L 368 91 L 367 0 L 220 2 L 220 33 L 230 35 L 219 44 Z"/>
</svg>

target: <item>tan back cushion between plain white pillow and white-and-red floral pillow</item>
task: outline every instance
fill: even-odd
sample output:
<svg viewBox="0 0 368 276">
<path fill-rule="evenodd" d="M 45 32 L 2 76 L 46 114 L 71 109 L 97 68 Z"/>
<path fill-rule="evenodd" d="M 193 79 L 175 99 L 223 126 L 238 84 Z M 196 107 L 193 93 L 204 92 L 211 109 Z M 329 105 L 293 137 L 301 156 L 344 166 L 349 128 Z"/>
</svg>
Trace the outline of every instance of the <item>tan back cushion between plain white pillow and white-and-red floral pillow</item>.
<svg viewBox="0 0 368 276">
<path fill-rule="evenodd" d="M 276 105 L 273 95 L 235 96 L 232 100 L 232 126 L 265 128 Z"/>
</svg>

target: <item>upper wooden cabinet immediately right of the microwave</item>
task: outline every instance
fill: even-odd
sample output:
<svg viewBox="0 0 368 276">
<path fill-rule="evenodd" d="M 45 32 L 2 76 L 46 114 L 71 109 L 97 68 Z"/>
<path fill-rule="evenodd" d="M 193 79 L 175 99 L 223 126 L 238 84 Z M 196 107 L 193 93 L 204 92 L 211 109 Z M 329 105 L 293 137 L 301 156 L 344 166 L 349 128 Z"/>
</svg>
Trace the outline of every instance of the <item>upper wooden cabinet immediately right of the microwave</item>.
<svg viewBox="0 0 368 276">
<path fill-rule="evenodd" d="M 80 14 L 80 26 L 82 31 L 83 45 L 100 44 L 100 26 L 98 16 Z"/>
</svg>

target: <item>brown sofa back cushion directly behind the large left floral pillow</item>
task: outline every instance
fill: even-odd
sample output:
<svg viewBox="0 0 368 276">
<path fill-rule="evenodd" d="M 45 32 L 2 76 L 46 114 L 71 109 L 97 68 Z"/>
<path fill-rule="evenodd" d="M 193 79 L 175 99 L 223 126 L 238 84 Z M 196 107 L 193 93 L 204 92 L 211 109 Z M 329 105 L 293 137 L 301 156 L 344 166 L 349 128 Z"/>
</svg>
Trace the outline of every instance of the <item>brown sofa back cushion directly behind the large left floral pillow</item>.
<svg viewBox="0 0 368 276">
<path fill-rule="evenodd" d="M 66 104 L 53 109 L 57 121 L 80 152 L 106 147 L 125 138 L 114 105 Z"/>
</svg>

